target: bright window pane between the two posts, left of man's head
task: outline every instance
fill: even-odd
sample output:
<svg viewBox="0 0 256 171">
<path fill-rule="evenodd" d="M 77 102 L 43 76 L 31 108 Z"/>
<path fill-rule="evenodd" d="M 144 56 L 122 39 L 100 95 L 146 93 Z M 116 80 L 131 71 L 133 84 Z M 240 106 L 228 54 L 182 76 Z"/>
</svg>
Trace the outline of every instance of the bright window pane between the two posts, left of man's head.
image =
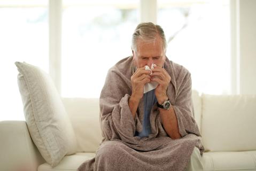
<svg viewBox="0 0 256 171">
<path fill-rule="evenodd" d="M 61 94 L 99 97 L 108 69 L 131 55 L 138 1 L 63 1 Z"/>
</svg>

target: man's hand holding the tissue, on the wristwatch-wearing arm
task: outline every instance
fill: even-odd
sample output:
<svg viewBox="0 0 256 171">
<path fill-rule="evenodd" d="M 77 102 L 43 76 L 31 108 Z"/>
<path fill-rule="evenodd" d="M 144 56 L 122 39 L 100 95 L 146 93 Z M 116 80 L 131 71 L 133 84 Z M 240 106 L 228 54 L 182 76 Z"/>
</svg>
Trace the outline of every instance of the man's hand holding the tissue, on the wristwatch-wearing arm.
<svg viewBox="0 0 256 171">
<path fill-rule="evenodd" d="M 162 104 L 165 102 L 165 100 L 168 99 L 166 91 L 170 83 L 170 75 L 167 73 L 165 68 L 159 66 L 154 66 L 154 68 L 151 70 L 153 72 L 153 74 L 151 75 L 151 81 L 158 82 L 158 86 L 154 90 L 154 94 L 157 97 L 158 103 Z"/>
</svg>

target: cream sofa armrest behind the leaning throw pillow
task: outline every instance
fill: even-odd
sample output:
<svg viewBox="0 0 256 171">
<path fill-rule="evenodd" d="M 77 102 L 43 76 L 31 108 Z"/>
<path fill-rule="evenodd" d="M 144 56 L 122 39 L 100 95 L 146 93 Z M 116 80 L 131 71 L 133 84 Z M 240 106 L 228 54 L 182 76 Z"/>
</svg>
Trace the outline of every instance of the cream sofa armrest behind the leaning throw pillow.
<svg viewBox="0 0 256 171">
<path fill-rule="evenodd" d="M 0 170 L 36 171 L 44 161 L 33 143 L 26 121 L 0 122 Z"/>
</svg>

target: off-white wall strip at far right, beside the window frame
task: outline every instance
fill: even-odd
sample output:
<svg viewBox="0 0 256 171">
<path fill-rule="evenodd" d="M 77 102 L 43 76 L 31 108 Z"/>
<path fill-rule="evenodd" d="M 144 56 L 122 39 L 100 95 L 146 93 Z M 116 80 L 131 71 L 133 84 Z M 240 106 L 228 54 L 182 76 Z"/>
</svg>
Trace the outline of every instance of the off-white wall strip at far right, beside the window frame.
<svg viewBox="0 0 256 171">
<path fill-rule="evenodd" d="M 256 1 L 239 1 L 240 93 L 256 94 Z"/>
</svg>

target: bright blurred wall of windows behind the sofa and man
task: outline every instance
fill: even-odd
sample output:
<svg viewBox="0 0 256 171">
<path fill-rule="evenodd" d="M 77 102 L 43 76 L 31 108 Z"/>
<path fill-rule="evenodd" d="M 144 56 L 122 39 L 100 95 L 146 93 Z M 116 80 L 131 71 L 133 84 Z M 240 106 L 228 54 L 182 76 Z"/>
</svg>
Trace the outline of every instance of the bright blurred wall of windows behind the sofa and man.
<svg viewBox="0 0 256 171">
<path fill-rule="evenodd" d="M 98 98 L 148 21 L 200 94 L 256 94 L 255 16 L 254 0 L 0 0 L 0 121 L 25 120 L 15 61 L 48 72 L 62 97 Z"/>
</svg>

